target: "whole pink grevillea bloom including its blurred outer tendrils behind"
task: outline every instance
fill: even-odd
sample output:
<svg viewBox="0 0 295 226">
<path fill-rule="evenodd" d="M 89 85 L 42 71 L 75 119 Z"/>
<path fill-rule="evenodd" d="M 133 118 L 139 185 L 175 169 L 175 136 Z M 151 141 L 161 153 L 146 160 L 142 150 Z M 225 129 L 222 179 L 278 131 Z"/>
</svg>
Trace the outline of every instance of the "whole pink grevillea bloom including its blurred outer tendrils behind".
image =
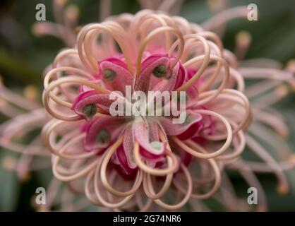
<svg viewBox="0 0 295 226">
<path fill-rule="evenodd" d="M 59 19 L 62 1 L 54 2 Z M 167 10 L 167 2 L 154 1 L 150 8 Z M 212 8 L 220 11 L 224 5 Z M 294 64 L 282 69 L 277 62 L 265 59 L 239 62 L 249 44 L 245 42 L 247 34 L 239 35 L 242 39 L 238 38 L 236 59 L 215 33 L 203 30 L 220 35 L 227 20 L 246 16 L 246 8 L 219 13 L 202 26 L 153 11 L 123 14 L 85 26 L 78 44 L 71 30 L 77 8 L 71 6 L 66 11 L 66 21 L 71 23 L 65 23 L 64 28 L 60 21 L 58 25 L 38 23 L 34 29 L 38 34 L 61 37 L 68 47 L 75 46 L 56 57 L 44 81 L 44 105 L 58 120 L 44 127 L 43 140 L 53 153 L 54 175 L 73 191 L 62 191 L 61 210 L 88 206 L 83 198 L 80 203 L 71 202 L 83 190 L 95 205 L 114 210 L 179 210 L 186 203 L 186 209 L 210 210 L 203 202 L 209 197 L 226 210 L 250 210 L 234 192 L 227 176 L 232 170 L 258 189 L 257 210 L 266 210 L 267 203 L 255 172 L 275 174 L 278 191 L 288 191 L 283 171 L 295 165 L 281 138 L 287 136 L 288 126 L 270 105 L 288 93 L 289 84 L 294 87 Z M 265 89 L 260 84 L 245 90 L 243 79 L 264 79 L 261 84 Z M 172 124 L 169 117 L 112 117 L 109 92 L 124 93 L 126 85 L 131 85 L 132 91 L 186 90 L 186 123 Z M 251 100 L 252 117 L 243 93 Z M 5 113 L 6 108 L 2 109 Z M 42 126 L 49 119 L 40 112 L 44 120 L 38 125 Z M 35 121 L 33 112 L 28 117 Z M 11 150 L 16 147 L 12 139 L 16 133 L 11 135 L 9 127 L 17 126 L 15 121 L 1 126 L 8 128 L 3 133 L 7 136 L 1 133 L 1 141 L 6 141 L 1 145 Z M 261 140 L 276 153 L 274 157 L 259 144 Z M 35 145 L 44 153 L 40 143 Z M 243 160 L 246 145 L 263 162 Z M 23 153 L 25 157 L 31 154 L 35 155 Z M 55 202 L 59 183 L 52 179 L 47 208 Z"/>
</svg>

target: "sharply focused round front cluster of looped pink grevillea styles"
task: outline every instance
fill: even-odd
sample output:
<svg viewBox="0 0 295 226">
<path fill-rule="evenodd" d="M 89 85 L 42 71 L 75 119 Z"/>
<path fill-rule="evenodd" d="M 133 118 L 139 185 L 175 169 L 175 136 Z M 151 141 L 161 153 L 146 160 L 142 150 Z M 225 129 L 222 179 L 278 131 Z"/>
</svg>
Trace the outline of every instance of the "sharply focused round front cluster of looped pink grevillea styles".
<svg viewBox="0 0 295 226">
<path fill-rule="evenodd" d="M 82 28 L 76 48 L 60 52 L 44 78 L 44 107 L 55 119 L 42 138 L 54 154 L 55 177 L 85 180 L 90 201 L 113 209 L 134 206 L 133 196 L 142 194 L 147 199 L 140 209 L 155 202 L 169 210 L 215 194 L 218 162 L 241 155 L 251 122 L 243 78 L 229 66 L 221 43 L 183 18 L 147 10 Z M 121 92 L 117 100 L 124 107 L 136 105 L 126 87 L 132 93 L 186 91 L 185 121 L 112 116 L 112 91 Z M 193 180 L 198 172 L 189 167 L 209 169 L 213 182 Z M 183 195 L 168 204 L 173 192 Z"/>
</svg>

